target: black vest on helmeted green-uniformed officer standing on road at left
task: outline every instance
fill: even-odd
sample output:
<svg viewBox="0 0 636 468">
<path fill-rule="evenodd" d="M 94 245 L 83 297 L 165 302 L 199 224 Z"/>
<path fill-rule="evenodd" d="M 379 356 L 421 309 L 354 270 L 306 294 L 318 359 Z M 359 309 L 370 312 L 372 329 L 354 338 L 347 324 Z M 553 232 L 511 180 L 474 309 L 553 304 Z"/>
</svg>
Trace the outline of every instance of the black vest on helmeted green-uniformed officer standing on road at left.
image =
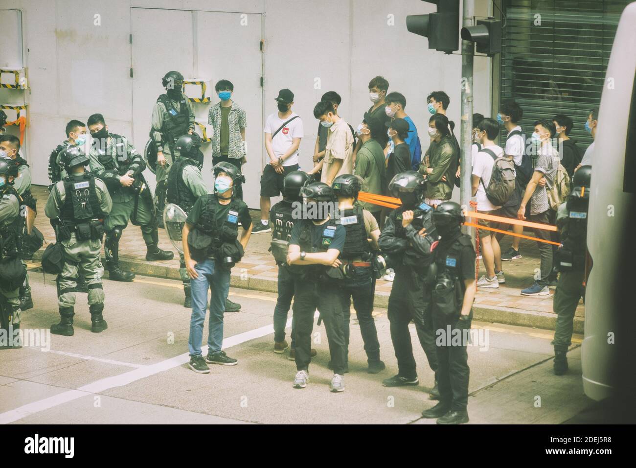
<svg viewBox="0 0 636 468">
<path fill-rule="evenodd" d="M 104 216 L 97 199 L 95 178 L 90 174 L 76 174 L 64 179 L 66 198 L 60 218 L 67 224 L 101 219 Z"/>
</svg>

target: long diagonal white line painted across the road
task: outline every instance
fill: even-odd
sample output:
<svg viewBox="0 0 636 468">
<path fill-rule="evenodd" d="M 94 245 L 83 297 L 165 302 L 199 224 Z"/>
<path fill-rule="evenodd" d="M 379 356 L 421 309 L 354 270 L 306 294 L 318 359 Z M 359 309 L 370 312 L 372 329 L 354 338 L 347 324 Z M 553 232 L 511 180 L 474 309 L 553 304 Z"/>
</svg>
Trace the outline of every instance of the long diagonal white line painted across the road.
<svg viewBox="0 0 636 468">
<path fill-rule="evenodd" d="M 318 314 L 316 312 L 315 316 L 317 315 Z M 287 319 L 285 327 L 291 327 L 291 317 Z M 224 350 L 227 348 L 232 348 L 232 346 L 237 346 L 238 344 L 245 343 L 245 341 L 251 341 L 252 339 L 267 336 L 269 334 L 272 334 L 273 332 L 273 325 L 266 325 L 265 327 L 261 327 L 259 329 L 239 333 L 238 335 L 230 336 L 223 339 L 223 346 L 221 346 L 221 348 L 223 348 Z M 202 346 L 201 351 L 205 355 L 207 353 L 207 346 Z M 190 354 L 183 353 L 162 362 L 157 362 L 156 364 L 144 365 L 143 367 L 139 367 L 138 369 L 134 369 L 133 371 L 128 371 L 124 372 L 123 374 L 100 379 L 93 383 L 89 383 L 88 385 L 81 386 L 77 390 L 67 390 L 66 392 L 62 392 L 58 395 L 53 395 L 52 397 L 34 401 L 32 403 L 27 403 L 20 406 L 19 408 L 0 413 L 0 424 L 15 422 L 22 418 L 26 418 L 27 416 L 39 413 L 40 411 L 45 411 L 46 409 L 54 408 L 55 406 L 59 406 L 60 404 L 85 397 L 86 395 L 104 392 L 105 390 L 109 390 L 109 388 L 128 385 L 139 379 L 158 374 L 159 372 L 168 371 L 169 369 L 172 369 L 174 367 L 179 367 L 179 365 L 186 364 L 186 362 L 189 361 Z"/>
</svg>

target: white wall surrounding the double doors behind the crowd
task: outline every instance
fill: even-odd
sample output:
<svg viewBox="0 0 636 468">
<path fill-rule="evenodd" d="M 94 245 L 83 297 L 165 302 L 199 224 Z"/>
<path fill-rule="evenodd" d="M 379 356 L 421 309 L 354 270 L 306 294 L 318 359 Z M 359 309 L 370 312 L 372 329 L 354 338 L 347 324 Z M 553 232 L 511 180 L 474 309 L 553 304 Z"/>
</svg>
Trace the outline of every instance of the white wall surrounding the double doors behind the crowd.
<svg viewBox="0 0 636 468">
<path fill-rule="evenodd" d="M 489 2 L 476 0 L 476 4 L 478 13 L 485 15 Z M 406 31 L 406 15 L 431 13 L 432 4 L 416 0 L 0 0 L 0 8 L 23 13 L 24 66 L 31 87 L 25 93 L 30 124 L 25 154 L 34 183 L 48 183 L 46 157 L 65 138 L 64 125 L 72 118 L 85 121 L 100 112 L 109 129 L 132 136 L 131 7 L 231 11 L 237 18 L 240 13 L 264 13 L 263 113 L 276 110 L 273 98 L 279 89 L 294 92 L 294 111 L 305 124 L 303 169 L 311 166 L 317 128 L 312 110 L 322 93 L 336 90 L 342 96 L 340 114 L 355 127 L 371 104 L 368 82 L 378 74 L 389 80 L 389 92 L 406 96 L 406 111 L 423 135 L 429 118 L 426 96 L 432 90 L 445 90 L 451 100 L 448 116 L 456 122 L 459 136 L 460 55 L 429 50 L 426 38 Z M 93 24 L 95 14 L 101 15 L 99 26 Z M 394 25 L 389 25 L 389 15 Z M 169 47 L 170 24 L 157 27 L 165 29 L 165 43 L 160 47 Z M 197 53 L 209 56 L 212 51 L 214 45 L 200 44 Z M 223 52 L 231 59 L 231 50 Z M 320 89 L 315 89 L 317 78 Z M 490 59 L 476 57 L 475 111 L 490 113 L 490 88 Z M 240 103 L 240 90 L 235 92 Z M 154 99 L 146 104 L 148 113 L 153 104 Z M 262 135 L 262 128 L 250 126 L 251 116 L 247 117 L 247 131 Z M 138 146 L 146 136 L 134 136 Z M 427 146 L 426 138 L 422 143 Z M 263 155 L 262 148 L 249 150 L 250 158 Z M 258 181 L 259 174 L 249 175 Z M 250 184 L 247 190 L 258 190 L 258 184 Z"/>
</svg>

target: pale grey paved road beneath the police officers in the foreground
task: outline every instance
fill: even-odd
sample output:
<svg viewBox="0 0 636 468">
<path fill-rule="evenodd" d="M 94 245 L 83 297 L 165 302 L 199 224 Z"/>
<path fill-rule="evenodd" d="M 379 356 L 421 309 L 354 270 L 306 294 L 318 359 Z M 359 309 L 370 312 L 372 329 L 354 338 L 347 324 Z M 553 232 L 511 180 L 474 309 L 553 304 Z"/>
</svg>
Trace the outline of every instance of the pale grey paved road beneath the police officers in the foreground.
<svg viewBox="0 0 636 468">
<path fill-rule="evenodd" d="M 22 328 L 48 329 L 58 319 L 54 278 L 32 272 L 31 283 L 36 308 L 24 313 Z M 104 288 L 106 332 L 90 332 L 86 295 L 78 294 L 73 337 L 52 336 L 48 352 L 1 352 L 0 423 L 431 423 L 420 412 L 435 403 L 426 392 L 433 375 L 414 329 L 420 385 L 381 384 L 397 371 L 384 309 L 374 314 L 387 369 L 364 371 L 353 315 L 347 388 L 332 394 L 322 326 L 314 328 L 318 355 L 310 385 L 292 388 L 294 363 L 272 352 L 273 294 L 230 290 L 243 308 L 226 314 L 224 348 L 239 365 L 196 374 L 186 364 L 190 311 L 181 305 L 179 282 L 138 276 L 134 283 L 105 280 Z M 480 339 L 469 347 L 471 423 L 560 423 L 590 406 L 579 348 L 570 351 L 570 373 L 556 377 L 551 332 L 496 323 L 474 327 Z"/>
</svg>

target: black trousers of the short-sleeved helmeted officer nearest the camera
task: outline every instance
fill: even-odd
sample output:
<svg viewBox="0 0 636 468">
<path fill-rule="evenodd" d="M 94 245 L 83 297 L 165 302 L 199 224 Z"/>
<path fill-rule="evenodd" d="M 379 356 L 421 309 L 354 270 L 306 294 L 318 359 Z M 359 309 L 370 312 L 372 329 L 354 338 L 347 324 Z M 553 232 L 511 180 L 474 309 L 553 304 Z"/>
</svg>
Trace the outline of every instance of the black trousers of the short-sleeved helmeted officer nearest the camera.
<svg viewBox="0 0 636 468">
<path fill-rule="evenodd" d="M 433 316 L 433 322 L 436 330 L 444 330 L 442 336 L 446 338 L 448 325 L 440 321 L 437 316 Z M 472 320 L 469 320 L 463 326 L 468 332 L 471 328 L 471 322 Z M 455 322 L 451 330 L 460 328 L 457 327 L 457 323 L 459 321 Z M 448 344 L 446 339 L 440 339 L 439 343 L 436 344 L 439 360 L 437 372 L 439 401 L 448 404 L 452 411 L 466 411 L 468 406 L 468 379 L 471 373 L 468 367 L 468 353 L 466 350 L 467 339 L 465 338 L 467 334 L 464 334 L 463 329 L 457 332 L 462 334 L 461 344 Z"/>
</svg>

